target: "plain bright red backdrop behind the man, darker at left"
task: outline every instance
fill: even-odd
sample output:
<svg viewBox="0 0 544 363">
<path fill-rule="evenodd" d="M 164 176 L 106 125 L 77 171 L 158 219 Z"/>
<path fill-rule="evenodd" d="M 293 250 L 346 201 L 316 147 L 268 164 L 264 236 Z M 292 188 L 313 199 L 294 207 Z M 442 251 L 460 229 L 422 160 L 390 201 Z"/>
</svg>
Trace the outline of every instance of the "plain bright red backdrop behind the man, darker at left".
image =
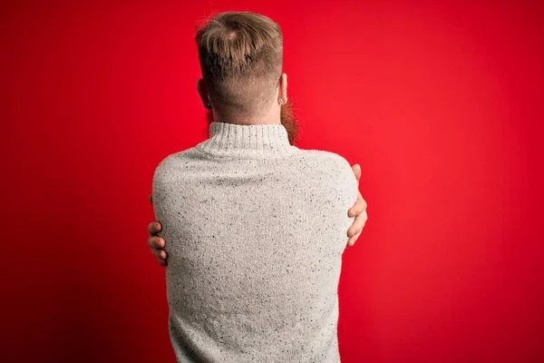
<svg viewBox="0 0 544 363">
<path fill-rule="evenodd" d="M 174 361 L 148 195 L 226 10 L 282 26 L 297 146 L 362 167 L 342 361 L 544 361 L 542 2 L 2 6 L 3 362 Z"/>
</svg>

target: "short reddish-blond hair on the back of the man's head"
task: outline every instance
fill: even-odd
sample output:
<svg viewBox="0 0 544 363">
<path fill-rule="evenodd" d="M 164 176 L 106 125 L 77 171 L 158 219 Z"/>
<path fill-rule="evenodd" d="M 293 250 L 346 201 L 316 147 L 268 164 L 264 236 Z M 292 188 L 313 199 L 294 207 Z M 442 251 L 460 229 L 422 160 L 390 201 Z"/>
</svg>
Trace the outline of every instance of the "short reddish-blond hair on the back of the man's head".
<svg viewBox="0 0 544 363">
<path fill-rule="evenodd" d="M 197 27 L 202 78 L 222 113 L 259 116 L 276 102 L 283 72 L 281 28 L 265 15 L 225 12 Z"/>
</svg>

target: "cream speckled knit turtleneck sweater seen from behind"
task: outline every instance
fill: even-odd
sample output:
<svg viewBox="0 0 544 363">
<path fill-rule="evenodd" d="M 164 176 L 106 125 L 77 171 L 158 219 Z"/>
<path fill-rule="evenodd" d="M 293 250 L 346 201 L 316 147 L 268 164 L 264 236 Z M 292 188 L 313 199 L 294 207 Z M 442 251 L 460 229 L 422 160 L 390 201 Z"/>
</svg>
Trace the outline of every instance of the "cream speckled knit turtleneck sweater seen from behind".
<svg viewBox="0 0 544 363">
<path fill-rule="evenodd" d="M 338 281 L 349 163 L 290 145 L 281 124 L 209 124 L 160 162 L 169 330 L 178 362 L 340 361 Z"/>
</svg>

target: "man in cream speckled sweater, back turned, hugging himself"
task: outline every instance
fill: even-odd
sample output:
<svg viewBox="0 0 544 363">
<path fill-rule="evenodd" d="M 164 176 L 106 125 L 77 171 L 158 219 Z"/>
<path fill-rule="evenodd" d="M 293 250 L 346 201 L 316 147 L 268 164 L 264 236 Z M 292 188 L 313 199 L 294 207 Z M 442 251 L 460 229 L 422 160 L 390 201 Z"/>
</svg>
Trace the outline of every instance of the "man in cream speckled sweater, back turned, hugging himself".
<svg viewBox="0 0 544 363">
<path fill-rule="evenodd" d="M 345 229 L 353 245 L 367 218 L 358 165 L 292 144 L 283 39 L 270 18 L 222 13 L 196 40 L 209 139 L 162 160 L 150 198 L 160 221 L 150 247 L 161 260 L 168 250 L 176 358 L 339 362 Z"/>
</svg>

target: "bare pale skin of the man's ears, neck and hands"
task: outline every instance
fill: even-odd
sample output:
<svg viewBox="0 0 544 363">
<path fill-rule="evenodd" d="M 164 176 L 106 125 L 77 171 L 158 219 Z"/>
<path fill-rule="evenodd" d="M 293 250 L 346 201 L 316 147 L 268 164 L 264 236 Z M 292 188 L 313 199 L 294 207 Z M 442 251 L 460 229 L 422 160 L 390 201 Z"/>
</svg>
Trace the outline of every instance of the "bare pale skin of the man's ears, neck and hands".
<svg viewBox="0 0 544 363">
<path fill-rule="evenodd" d="M 204 105 L 209 104 L 208 91 L 206 83 L 202 78 L 197 82 L 197 91 L 199 93 L 200 100 Z M 229 123 L 239 124 L 262 124 L 262 123 L 281 123 L 280 122 L 280 107 L 282 103 L 287 103 L 287 74 L 281 74 L 279 83 L 277 84 L 277 103 L 274 102 L 269 111 L 264 116 L 260 116 L 258 119 L 252 119 L 244 116 L 230 115 L 228 117 Z M 226 120 L 212 105 L 213 119 L 214 120 Z M 361 179 L 361 167 L 359 164 L 352 165 L 352 171 L 355 174 L 357 184 Z M 152 194 L 150 194 L 150 202 L 153 204 Z M 347 211 L 348 217 L 355 217 L 354 222 L 347 230 L 347 247 L 355 245 L 355 241 L 361 235 L 364 229 L 364 225 L 368 220 L 368 214 L 366 213 L 366 201 L 364 201 L 361 191 L 358 191 L 357 200 L 355 204 Z M 160 221 L 151 221 L 148 225 L 148 246 L 151 253 L 159 260 L 161 266 L 167 266 L 168 255 L 164 247 L 166 246 L 166 240 L 158 236 L 157 233 L 162 231 L 162 225 Z"/>
</svg>

